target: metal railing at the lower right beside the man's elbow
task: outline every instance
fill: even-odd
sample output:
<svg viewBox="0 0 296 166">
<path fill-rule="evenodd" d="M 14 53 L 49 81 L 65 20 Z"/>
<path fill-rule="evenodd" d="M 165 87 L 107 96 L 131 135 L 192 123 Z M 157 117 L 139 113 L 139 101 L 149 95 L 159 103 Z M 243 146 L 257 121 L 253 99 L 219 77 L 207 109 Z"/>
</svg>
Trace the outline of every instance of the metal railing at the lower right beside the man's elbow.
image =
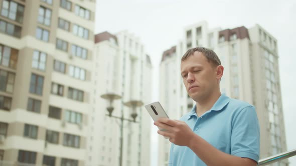
<svg viewBox="0 0 296 166">
<path fill-rule="evenodd" d="M 260 159 L 259 162 L 258 162 L 258 165 L 267 165 L 267 164 L 277 162 L 277 161 L 280 161 L 282 159 L 285 159 L 285 158 L 288 158 L 288 157 L 291 157 L 291 156 L 294 156 L 294 155 L 296 155 L 296 148 L 293 149 L 293 150 L 285 151 L 285 152 L 282 152 L 282 153 L 272 155 L 270 157 Z"/>
</svg>

